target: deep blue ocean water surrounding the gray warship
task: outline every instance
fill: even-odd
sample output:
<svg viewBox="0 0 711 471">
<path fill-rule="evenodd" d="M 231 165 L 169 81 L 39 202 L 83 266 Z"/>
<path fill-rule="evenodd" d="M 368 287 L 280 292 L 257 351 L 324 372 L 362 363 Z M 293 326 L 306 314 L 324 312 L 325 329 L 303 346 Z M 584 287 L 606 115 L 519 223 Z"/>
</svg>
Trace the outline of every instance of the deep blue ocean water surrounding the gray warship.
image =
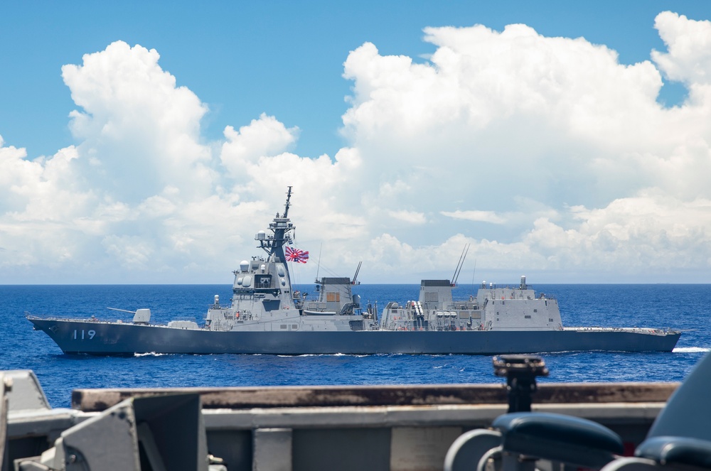
<svg viewBox="0 0 711 471">
<path fill-rule="evenodd" d="M 314 292 L 313 285 L 295 289 Z M 683 330 L 673 352 L 542 354 L 550 376 L 540 382 L 681 381 L 711 350 L 711 285 L 536 285 L 558 299 L 566 326 L 672 327 Z M 358 285 L 363 303 L 417 299 L 419 285 Z M 476 293 L 459 286 L 455 297 Z M 130 320 L 107 307 L 151 308 L 155 322 L 202 318 L 229 285 L 0 286 L 4 325 L 0 369 L 33 369 L 53 407 L 68 407 L 75 388 L 269 386 L 326 384 L 500 383 L 491 357 L 469 355 L 65 355 L 24 318 L 36 315 Z"/>
</svg>

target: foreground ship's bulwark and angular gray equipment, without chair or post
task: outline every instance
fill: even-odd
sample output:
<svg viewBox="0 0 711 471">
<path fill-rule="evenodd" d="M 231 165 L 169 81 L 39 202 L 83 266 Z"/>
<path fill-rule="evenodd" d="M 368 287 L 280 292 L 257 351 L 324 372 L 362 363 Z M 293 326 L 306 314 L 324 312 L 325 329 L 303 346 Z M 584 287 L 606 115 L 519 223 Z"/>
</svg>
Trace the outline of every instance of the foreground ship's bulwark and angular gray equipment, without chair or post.
<svg viewBox="0 0 711 471">
<path fill-rule="evenodd" d="M 0 372 L 0 389 L 7 379 L 5 450 L 22 471 L 207 470 L 208 455 L 220 458 L 211 471 L 442 470 L 451 443 L 491 426 L 507 401 L 501 383 L 76 389 L 72 408 L 50 408 L 32 372 Z M 632 449 L 677 387 L 539 384 L 534 409 L 602 423 Z M 148 465 L 139 450 L 151 443 Z M 73 465 L 40 467 L 63 463 L 63 453 Z"/>
</svg>

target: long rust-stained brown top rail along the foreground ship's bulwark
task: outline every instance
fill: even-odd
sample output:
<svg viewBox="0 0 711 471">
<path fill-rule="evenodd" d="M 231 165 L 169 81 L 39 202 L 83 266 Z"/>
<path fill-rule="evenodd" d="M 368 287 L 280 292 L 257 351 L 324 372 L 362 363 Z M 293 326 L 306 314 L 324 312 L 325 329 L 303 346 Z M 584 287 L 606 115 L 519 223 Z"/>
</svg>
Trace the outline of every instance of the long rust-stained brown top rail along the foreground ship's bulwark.
<svg viewBox="0 0 711 471">
<path fill-rule="evenodd" d="M 665 402 L 679 383 L 539 384 L 534 404 Z M 224 388 L 75 389 L 72 408 L 103 411 L 131 397 L 194 393 L 203 408 L 336 406 L 437 406 L 508 404 L 501 384 L 428 384 L 401 386 L 264 386 Z"/>
</svg>

